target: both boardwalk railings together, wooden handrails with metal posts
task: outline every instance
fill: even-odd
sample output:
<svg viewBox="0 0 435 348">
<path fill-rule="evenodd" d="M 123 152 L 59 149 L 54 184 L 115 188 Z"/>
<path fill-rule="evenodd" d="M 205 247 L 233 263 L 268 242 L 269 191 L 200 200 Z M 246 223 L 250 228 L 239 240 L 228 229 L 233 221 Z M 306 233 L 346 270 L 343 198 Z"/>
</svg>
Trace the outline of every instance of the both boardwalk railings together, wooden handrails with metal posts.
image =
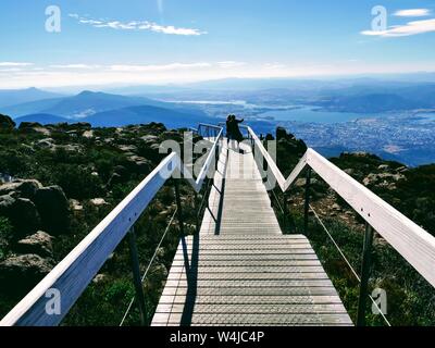
<svg viewBox="0 0 435 348">
<path fill-rule="evenodd" d="M 209 130 L 207 130 L 208 128 Z M 357 325 L 363 325 L 365 320 L 365 301 L 369 296 L 368 285 L 374 229 L 431 285 L 435 286 L 435 272 L 433 272 L 435 269 L 435 238 L 432 235 L 312 149 L 308 149 L 289 177 L 285 179 L 275 161 L 265 150 L 256 133 L 250 127 L 245 127 L 245 129 L 248 132 L 248 139 L 252 146 L 252 153 L 256 158 L 259 156 L 262 159 L 261 165 L 263 165 L 263 161 L 265 161 L 269 166 L 269 173 L 272 173 L 278 188 L 284 195 L 284 201 L 283 204 L 281 204 L 281 209 L 284 213 L 287 207 L 285 194 L 302 171 L 307 169 L 303 207 L 303 231 L 306 234 L 308 234 L 309 212 L 310 210 L 314 212 L 310 204 L 312 171 L 322 177 L 365 221 L 366 228 L 361 275 L 358 275 L 353 268 L 351 268 L 352 273 L 356 275 L 357 279 L 360 281 Z M 198 129 L 194 130 L 209 140 L 212 139 L 212 147 L 209 150 L 209 154 L 207 156 L 198 177 L 196 179 L 190 177 L 191 174 L 188 173 L 188 170 L 182 163 L 178 154 L 171 153 L 167 156 L 142 183 L 140 183 L 64 260 L 62 260 L 9 314 L 7 314 L 7 316 L 3 318 L 0 325 L 58 325 L 92 281 L 109 256 L 127 234 L 129 236 L 128 240 L 136 300 L 138 302 L 142 324 L 148 323 L 144 301 L 142 281 L 154 257 L 151 258 L 150 265 L 147 268 L 145 274 L 140 275 L 136 237 L 133 228 L 135 222 L 147 209 L 157 192 L 175 172 L 178 171 L 179 173 L 188 174 L 186 178 L 187 182 L 191 185 L 194 190 L 199 194 L 204 187 L 204 182 L 212 169 L 212 164 L 215 164 L 214 169 L 217 167 L 217 154 L 220 151 L 220 141 L 223 139 L 223 127 L 201 124 Z M 260 163 L 258 164 L 260 165 Z M 209 185 L 210 181 L 206 186 L 209 187 Z M 199 206 L 200 211 L 203 209 L 203 204 L 207 200 L 207 187 Z M 170 225 L 173 223 L 176 214 L 179 229 L 183 234 L 183 212 L 177 181 L 174 181 L 174 189 L 177 209 L 171 219 Z M 314 215 L 324 226 L 315 212 Z M 199 219 L 197 216 L 197 228 L 198 226 Z M 327 232 L 325 226 L 324 228 Z M 327 232 L 327 234 L 332 238 L 334 245 L 339 249 L 331 233 Z M 159 245 L 161 245 L 166 235 L 167 228 Z M 344 256 L 341 250 L 340 253 Z M 351 266 L 350 262 L 348 262 L 348 265 Z M 62 294 L 62 312 L 59 315 L 48 314 L 46 311 L 46 304 L 50 300 L 46 295 L 50 289 L 57 289 Z M 132 306 L 133 302 L 128 306 L 123 322 Z"/>
</svg>

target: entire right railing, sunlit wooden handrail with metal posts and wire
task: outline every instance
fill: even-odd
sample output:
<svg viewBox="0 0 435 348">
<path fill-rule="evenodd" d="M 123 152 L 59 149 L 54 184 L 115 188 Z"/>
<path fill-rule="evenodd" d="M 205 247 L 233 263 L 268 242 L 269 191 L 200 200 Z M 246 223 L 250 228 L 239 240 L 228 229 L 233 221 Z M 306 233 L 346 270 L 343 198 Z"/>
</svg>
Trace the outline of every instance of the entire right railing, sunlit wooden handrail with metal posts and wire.
<svg viewBox="0 0 435 348">
<path fill-rule="evenodd" d="M 331 233 L 327 231 L 310 204 L 312 171 L 314 171 L 327 185 L 330 185 L 330 187 L 333 188 L 335 192 L 337 192 L 365 221 L 365 234 L 360 275 L 358 275 L 353 268 L 351 268 L 353 275 L 356 275 L 360 283 L 357 325 L 365 325 L 366 298 L 369 297 L 374 302 L 373 298 L 368 291 L 374 231 L 376 231 L 396 251 L 399 252 L 401 257 L 405 258 L 407 262 L 409 262 L 417 270 L 417 272 L 419 272 L 432 286 L 435 287 L 434 236 L 406 217 L 390 204 L 382 200 L 378 196 L 355 181 L 313 149 L 307 150 L 306 154 L 300 159 L 289 177 L 285 179 L 274 159 L 265 150 L 263 142 L 258 138 L 256 133 L 250 127 L 246 127 L 246 129 L 249 134 L 248 138 L 252 145 L 252 152 L 256 153 L 258 151 L 261 154 L 261 157 L 259 157 L 261 159 L 261 163 L 258 163 L 258 165 L 262 166 L 263 161 L 266 162 L 269 167 L 268 173 L 273 175 L 274 179 L 276 179 L 278 189 L 281 189 L 284 195 L 284 206 L 278 206 L 283 212 L 283 215 L 286 214 L 287 208 L 285 195 L 295 184 L 296 179 L 300 176 L 303 170 L 306 170 L 303 207 L 303 233 L 306 235 L 308 235 L 309 213 L 311 210 L 320 221 L 321 225 L 327 232 L 328 236 L 332 237 Z M 277 201 L 279 201 L 273 190 L 272 195 Z M 335 247 L 339 249 L 334 239 L 333 243 Z M 340 249 L 339 252 L 343 257 L 345 257 Z M 347 264 L 351 266 L 348 261 Z M 375 306 L 377 307 L 376 303 Z M 382 313 L 381 310 L 380 313 Z M 385 315 L 383 315 L 383 318 L 389 325 L 389 322 Z"/>
</svg>

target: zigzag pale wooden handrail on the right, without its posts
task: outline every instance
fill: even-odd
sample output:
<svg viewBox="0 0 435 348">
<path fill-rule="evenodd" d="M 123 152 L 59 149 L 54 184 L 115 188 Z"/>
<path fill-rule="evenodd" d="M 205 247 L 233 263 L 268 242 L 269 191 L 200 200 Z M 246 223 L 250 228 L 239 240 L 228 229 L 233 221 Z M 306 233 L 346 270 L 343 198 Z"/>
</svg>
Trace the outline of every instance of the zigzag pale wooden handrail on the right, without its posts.
<svg viewBox="0 0 435 348">
<path fill-rule="evenodd" d="M 313 149 L 307 150 L 289 177 L 285 179 L 256 133 L 250 127 L 247 129 L 254 141 L 256 150 L 260 151 L 266 160 L 270 172 L 276 178 L 283 192 L 289 189 L 304 167 L 311 167 L 435 287 L 434 236 Z"/>
</svg>

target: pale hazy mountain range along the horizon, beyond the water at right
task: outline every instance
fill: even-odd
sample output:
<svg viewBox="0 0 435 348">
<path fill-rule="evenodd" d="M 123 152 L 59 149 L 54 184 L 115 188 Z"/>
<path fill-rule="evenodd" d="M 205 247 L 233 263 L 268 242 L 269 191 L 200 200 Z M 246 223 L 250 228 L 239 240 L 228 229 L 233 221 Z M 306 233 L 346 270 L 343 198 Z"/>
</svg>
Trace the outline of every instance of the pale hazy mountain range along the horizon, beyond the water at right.
<svg viewBox="0 0 435 348">
<path fill-rule="evenodd" d="M 421 76 L 422 80 L 418 80 Z M 390 79 L 246 79 L 233 78 L 186 85 L 153 91 L 140 87 L 124 88 L 135 96 L 162 100 L 232 101 L 240 100 L 258 105 L 316 105 L 330 111 L 351 113 L 377 113 L 435 108 L 435 74 L 410 76 L 406 82 L 398 76 Z M 423 78 L 426 77 L 427 82 Z M 398 78 L 395 80 L 394 78 Z M 432 78 L 432 82 L 431 82 Z M 187 88 L 188 87 L 188 88 Z"/>
</svg>

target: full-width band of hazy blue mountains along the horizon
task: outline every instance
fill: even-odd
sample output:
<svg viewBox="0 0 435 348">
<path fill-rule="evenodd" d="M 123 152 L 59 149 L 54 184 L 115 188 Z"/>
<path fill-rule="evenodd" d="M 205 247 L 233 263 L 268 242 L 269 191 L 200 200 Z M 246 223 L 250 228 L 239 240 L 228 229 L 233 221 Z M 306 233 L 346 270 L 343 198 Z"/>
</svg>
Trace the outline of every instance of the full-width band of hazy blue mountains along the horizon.
<svg viewBox="0 0 435 348">
<path fill-rule="evenodd" d="M 422 75 L 430 78 L 432 75 Z M 393 78 L 393 77 L 391 77 Z M 249 86 L 249 88 L 248 88 Z M 226 104 L 208 107 L 184 101 L 245 101 L 251 105 L 312 105 L 335 112 L 362 115 L 384 112 L 435 109 L 435 83 L 381 80 L 355 78 L 337 80 L 314 79 L 223 79 L 186 85 L 144 88 L 124 87 L 124 92 L 82 91 L 74 96 L 60 96 L 29 88 L 25 90 L 0 90 L 0 113 L 13 119 L 53 123 L 54 121 L 86 121 L 99 126 L 122 126 L 134 123 L 160 121 L 170 127 L 190 126 L 199 122 L 215 123 L 227 112 L 239 113 L 253 122 L 251 115 L 261 114 L 261 107 L 231 110 Z M 121 91 L 121 89 L 120 89 Z M 157 100 L 160 99 L 160 100 Z M 165 102 L 161 100 L 171 100 Z M 13 101 L 21 101 L 11 105 Z M 182 102 L 177 102 L 182 101 Z M 251 112 L 251 113 L 249 113 Z M 50 120 L 50 122 L 48 122 Z M 259 124 L 270 128 L 270 123 Z"/>
</svg>

